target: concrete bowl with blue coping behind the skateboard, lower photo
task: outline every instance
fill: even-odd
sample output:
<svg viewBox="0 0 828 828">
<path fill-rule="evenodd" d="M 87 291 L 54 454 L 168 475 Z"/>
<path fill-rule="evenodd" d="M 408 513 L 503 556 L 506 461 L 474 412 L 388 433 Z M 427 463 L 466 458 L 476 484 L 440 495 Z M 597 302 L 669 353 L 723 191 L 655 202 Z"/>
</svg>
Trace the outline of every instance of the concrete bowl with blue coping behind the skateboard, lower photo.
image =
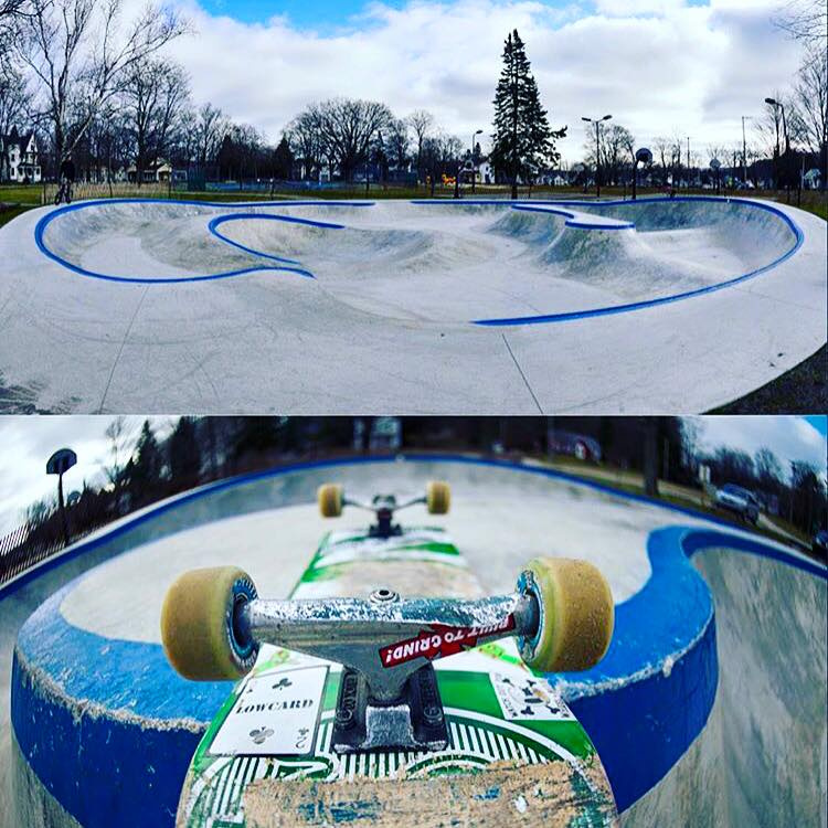
<svg viewBox="0 0 828 828">
<path fill-rule="evenodd" d="M 455 456 L 212 484 L 2 587 L 0 814 L 26 826 L 172 826 L 192 752 L 231 686 L 184 681 L 167 664 L 169 583 L 232 563 L 283 597 L 326 531 L 365 520 L 319 518 L 319 484 L 359 498 L 417 493 L 429 478 L 453 486 L 452 512 L 417 507 L 405 522 L 444 526 L 487 591 L 510 592 L 538 554 L 584 558 L 607 576 L 606 658 L 550 679 L 595 743 L 625 825 L 826 824 L 826 567 L 676 507 Z"/>
</svg>

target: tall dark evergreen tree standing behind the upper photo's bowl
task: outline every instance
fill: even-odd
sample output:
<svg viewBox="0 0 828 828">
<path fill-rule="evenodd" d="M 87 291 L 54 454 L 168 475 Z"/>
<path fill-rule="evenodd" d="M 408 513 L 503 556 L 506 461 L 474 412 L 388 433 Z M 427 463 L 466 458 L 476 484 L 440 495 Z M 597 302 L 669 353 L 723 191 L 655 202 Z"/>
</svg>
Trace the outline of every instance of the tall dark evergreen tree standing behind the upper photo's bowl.
<svg viewBox="0 0 828 828">
<path fill-rule="evenodd" d="M 512 185 L 518 198 L 518 179 L 531 182 L 546 164 L 555 163 L 555 139 L 566 127 L 552 130 L 541 105 L 538 84 L 531 72 L 526 46 L 516 29 L 506 40 L 503 68 L 495 93 L 495 135 L 491 161 Z"/>
</svg>

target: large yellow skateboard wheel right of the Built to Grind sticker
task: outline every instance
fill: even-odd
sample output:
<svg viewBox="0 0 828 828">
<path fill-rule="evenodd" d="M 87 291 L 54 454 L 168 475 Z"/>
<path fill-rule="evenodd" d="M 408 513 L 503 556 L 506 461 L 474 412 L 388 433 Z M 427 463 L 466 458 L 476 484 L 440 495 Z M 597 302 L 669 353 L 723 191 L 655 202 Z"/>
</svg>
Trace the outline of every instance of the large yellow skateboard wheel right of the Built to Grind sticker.
<svg viewBox="0 0 828 828">
<path fill-rule="evenodd" d="M 538 629 L 518 641 L 523 660 L 538 672 L 574 672 L 594 667 L 613 638 L 615 603 L 601 572 L 586 561 L 537 558 L 518 581 L 538 606 Z"/>
</svg>

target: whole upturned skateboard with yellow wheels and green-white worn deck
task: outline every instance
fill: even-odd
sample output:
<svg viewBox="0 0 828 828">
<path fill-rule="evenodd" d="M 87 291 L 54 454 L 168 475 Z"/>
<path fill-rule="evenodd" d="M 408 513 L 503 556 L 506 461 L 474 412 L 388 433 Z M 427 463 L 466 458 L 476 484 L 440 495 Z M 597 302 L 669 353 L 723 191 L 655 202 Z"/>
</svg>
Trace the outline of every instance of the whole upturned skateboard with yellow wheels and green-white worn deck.
<svg viewBox="0 0 828 828">
<path fill-rule="evenodd" d="M 370 502 L 338 485 L 325 517 L 368 529 L 321 541 L 287 601 L 232 567 L 194 570 L 161 613 L 168 659 L 191 680 L 240 679 L 191 761 L 177 826 L 611 826 L 590 737 L 543 678 L 597 664 L 614 604 L 601 573 L 531 561 L 486 595 L 448 534 L 402 527 L 450 492 Z"/>
</svg>

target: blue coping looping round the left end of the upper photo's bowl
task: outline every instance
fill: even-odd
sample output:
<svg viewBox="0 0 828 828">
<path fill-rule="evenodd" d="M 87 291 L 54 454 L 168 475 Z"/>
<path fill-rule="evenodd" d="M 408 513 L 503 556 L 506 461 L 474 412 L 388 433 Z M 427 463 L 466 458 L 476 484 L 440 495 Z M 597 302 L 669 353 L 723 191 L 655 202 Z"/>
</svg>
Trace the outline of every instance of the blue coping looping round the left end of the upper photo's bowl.
<svg viewBox="0 0 828 828">
<path fill-rule="evenodd" d="M 38 245 L 38 250 L 47 258 L 51 258 L 53 262 L 56 262 L 62 267 L 65 267 L 68 270 L 72 270 L 73 273 L 78 274 L 79 276 L 87 276 L 95 279 L 103 279 L 105 282 L 121 282 L 121 283 L 131 283 L 131 284 L 139 284 L 139 285 L 153 285 L 153 284 L 160 284 L 160 285 L 171 285 L 171 284 L 179 284 L 184 282 L 212 282 L 215 279 L 226 279 L 234 276 L 243 276 L 245 274 L 250 273 L 261 273 L 263 270 L 275 270 L 275 272 L 286 272 L 286 273 L 296 273 L 300 276 L 305 276 L 308 278 L 314 278 L 314 274 L 309 270 L 306 270 L 301 267 L 288 267 L 288 266 L 275 266 L 275 265 L 261 265 L 258 267 L 245 267 L 236 270 L 225 270 L 217 274 L 205 274 L 201 276 L 178 276 L 178 277 L 168 277 L 168 278 L 149 278 L 149 277 L 141 277 L 141 276 L 112 276 L 109 274 L 105 273 L 97 273 L 96 270 L 89 270 L 85 267 L 79 267 L 78 265 L 73 264 L 66 258 L 63 258 L 63 256 L 59 256 L 56 253 L 54 253 L 45 243 L 43 238 L 43 234 L 45 233 L 46 227 L 55 220 L 59 219 L 62 215 L 65 215 L 66 213 L 75 212 L 76 210 L 86 210 L 87 208 L 93 206 L 100 206 L 100 205 L 112 205 L 112 204 L 187 204 L 187 205 L 194 205 L 194 206 L 209 206 L 209 208 L 222 208 L 222 209 L 250 209 L 252 206 L 258 206 L 258 208 L 266 208 L 266 206 L 335 206 L 335 208 L 354 208 L 354 206 L 374 206 L 375 202 L 370 201 L 265 201 L 265 202 L 237 202 L 237 203 L 224 203 L 220 201 L 193 201 L 188 199 L 97 199 L 94 201 L 79 201 L 74 204 L 67 204 L 63 208 L 59 208 L 57 210 L 53 210 L 51 213 L 47 213 L 44 215 L 35 225 L 34 227 L 34 243 Z M 253 214 L 257 215 L 257 214 Z M 227 216 L 229 219 L 232 219 L 232 216 Z M 263 217 L 257 215 L 257 217 Z M 275 217 L 275 216 L 273 216 Z M 285 219 L 287 220 L 287 219 Z M 307 221 L 307 220 L 306 220 Z M 319 222 L 320 225 L 322 225 L 322 222 Z M 332 226 L 332 225 L 331 225 Z M 279 259 L 276 256 L 270 256 L 266 253 L 261 253 L 258 251 L 254 251 L 252 248 L 245 248 L 242 245 L 236 244 L 235 242 L 232 242 L 229 238 L 225 238 L 214 231 L 211 231 L 213 235 L 215 235 L 217 238 L 221 238 L 221 241 L 226 242 L 227 244 L 232 244 L 236 247 L 240 247 L 242 250 L 245 250 L 247 253 L 252 253 L 256 256 L 262 256 L 263 258 L 269 258 L 274 261 L 284 261 L 286 263 L 293 262 L 291 259 Z M 298 264 L 298 263 L 294 263 Z"/>
</svg>

